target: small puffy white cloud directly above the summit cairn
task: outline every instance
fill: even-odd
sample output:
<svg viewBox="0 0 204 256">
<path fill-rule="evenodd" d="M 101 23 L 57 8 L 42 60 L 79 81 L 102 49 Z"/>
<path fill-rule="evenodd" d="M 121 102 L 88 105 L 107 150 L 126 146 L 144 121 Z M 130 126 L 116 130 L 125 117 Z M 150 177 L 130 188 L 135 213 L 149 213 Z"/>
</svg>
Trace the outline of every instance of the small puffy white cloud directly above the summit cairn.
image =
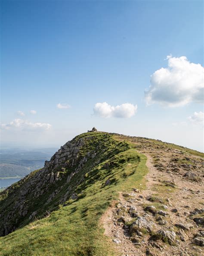
<svg viewBox="0 0 204 256">
<path fill-rule="evenodd" d="M 130 118 L 136 114 L 137 105 L 124 103 L 116 107 L 109 105 L 106 102 L 96 103 L 93 108 L 94 115 L 99 115 L 103 118 L 117 117 L 117 118 Z"/>
</svg>

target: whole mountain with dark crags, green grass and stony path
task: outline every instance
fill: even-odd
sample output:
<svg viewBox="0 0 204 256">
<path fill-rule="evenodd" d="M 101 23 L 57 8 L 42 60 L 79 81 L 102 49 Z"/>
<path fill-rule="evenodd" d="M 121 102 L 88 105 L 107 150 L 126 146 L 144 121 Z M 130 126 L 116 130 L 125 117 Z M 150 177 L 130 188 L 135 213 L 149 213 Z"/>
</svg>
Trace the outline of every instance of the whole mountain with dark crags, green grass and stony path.
<svg viewBox="0 0 204 256">
<path fill-rule="evenodd" d="M 204 154 L 92 131 L 0 193 L 0 255 L 200 255 Z"/>
</svg>

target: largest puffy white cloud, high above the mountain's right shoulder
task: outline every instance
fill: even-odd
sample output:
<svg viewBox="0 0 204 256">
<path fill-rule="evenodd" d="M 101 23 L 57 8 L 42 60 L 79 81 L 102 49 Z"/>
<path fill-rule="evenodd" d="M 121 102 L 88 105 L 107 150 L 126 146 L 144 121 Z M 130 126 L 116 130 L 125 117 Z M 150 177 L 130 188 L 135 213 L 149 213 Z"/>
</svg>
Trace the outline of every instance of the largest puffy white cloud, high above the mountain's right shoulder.
<svg viewBox="0 0 204 256">
<path fill-rule="evenodd" d="M 146 103 L 164 106 L 184 106 L 204 101 L 204 67 L 190 63 L 185 56 L 167 56 L 168 67 L 151 76 L 151 85 L 145 90 Z"/>
</svg>

